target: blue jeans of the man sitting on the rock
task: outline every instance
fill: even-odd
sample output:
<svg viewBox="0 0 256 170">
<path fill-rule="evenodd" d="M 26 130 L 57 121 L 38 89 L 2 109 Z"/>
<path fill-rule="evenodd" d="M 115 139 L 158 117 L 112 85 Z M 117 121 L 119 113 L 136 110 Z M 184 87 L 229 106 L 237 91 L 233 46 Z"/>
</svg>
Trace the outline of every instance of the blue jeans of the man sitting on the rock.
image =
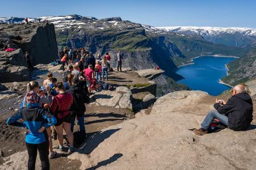
<svg viewBox="0 0 256 170">
<path fill-rule="evenodd" d="M 209 129 L 209 126 L 214 118 L 217 118 L 222 124 L 228 126 L 228 117 L 218 113 L 216 110 L 213 109 L 207 114 L 207 116 L 204 118 L 204 121 L 201 123 L 202 128 L 204 128 L 205 130 Z"/>
</svg>

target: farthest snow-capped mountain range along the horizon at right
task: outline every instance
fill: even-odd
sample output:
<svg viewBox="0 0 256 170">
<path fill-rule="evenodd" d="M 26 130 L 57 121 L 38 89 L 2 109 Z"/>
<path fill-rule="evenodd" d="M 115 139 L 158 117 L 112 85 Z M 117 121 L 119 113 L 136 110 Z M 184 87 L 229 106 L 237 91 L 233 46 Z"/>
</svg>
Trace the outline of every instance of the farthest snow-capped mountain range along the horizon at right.
<svg viewBox="0 0 256 170">
<path fill-rule="evenodd" d="M 229 46 L 246 46 L 256 40 L 256 29 L 252 28 L 220 28 L 220 27 L 158 27 L 168 32 L 184 35 L 200 35 L 215 44 Z"/>
</svg>

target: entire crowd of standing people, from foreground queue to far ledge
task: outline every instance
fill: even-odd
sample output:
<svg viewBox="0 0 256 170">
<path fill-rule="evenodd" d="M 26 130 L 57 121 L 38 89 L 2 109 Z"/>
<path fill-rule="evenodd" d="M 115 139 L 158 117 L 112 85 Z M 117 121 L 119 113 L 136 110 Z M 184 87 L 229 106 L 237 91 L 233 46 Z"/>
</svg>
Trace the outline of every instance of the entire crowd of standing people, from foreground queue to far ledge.
<svg viewBox="0 0 256 170">
<path fill-rule="evenodd" d="M 28 53 L 26 53 L 28 56 Z M 117 54 L 121 59 L 121 52 Z M 27 57 L 28 58 L 28 57 Z M 7 120 L 7 125 L 27 128 L 26 146 L 28 150 L 28 169 L 35 169 L 36 155 L 39 151 L 42 169 L 49 169 L 48 158 L 55 158 L 52 140 L 57 139 L 59 150 L 63 151 L 63 130 L 67 134 L 68 152 L 74 150 L 73 130 L 75 121 L 79 124 L 80 138 L 85 138 L 84 113 L 85 104 L 89 103 L 91 84 L 108 80 L 110 55 L 94 57 L 84 48 L 64 48 L 60 51 L 61 62 L 68 65 L 63 81 L 57 81 L 52 73 L 42 86 L 32 81 L 27 84 L 27 94 L 20 104 L 20 110 Z M 121 65 L 119 66 L 121 70 Z M 94 79 L 95 80 L 95 79 Z M 19 121 L 22 119 L 23 121 Z"/>
</svg>

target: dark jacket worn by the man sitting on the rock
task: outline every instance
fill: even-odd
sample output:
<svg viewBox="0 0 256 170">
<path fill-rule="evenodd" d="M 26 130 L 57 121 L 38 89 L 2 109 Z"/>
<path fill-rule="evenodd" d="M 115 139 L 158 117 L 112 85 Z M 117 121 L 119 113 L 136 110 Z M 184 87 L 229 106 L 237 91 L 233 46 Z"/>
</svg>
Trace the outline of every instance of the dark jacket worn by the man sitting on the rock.
<svg viewBox="0 0 256 170">
<path fill-rule="evenodd" d="M 253 120 L 253 101 L 246 92 L 232 96 L 223 106 L 216 103 L 214 108 L 228 116 L 228 126 L 232 130 L 245 130 Z"/>
</svg>

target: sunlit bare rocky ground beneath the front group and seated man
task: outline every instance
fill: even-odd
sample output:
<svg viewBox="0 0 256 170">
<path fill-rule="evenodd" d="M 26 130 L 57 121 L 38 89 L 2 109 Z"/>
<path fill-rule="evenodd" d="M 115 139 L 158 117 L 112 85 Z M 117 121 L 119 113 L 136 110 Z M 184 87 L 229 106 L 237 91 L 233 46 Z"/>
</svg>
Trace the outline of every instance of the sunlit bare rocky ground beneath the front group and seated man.
<svg viewBox="0 0 256 170">
<path fill-rule="evenodd" d="M 39 82 L 46 69 L 55 70 L 54 75 L 61 79 L 59 66 L 38 68 L 32 75 Z M 56 149 L 59 157 L 51 160 L 51 169 L 255 168 L 255 120 L 246 131 L 225 129 L 198 137 L 188 129 L 199 128 L 216 97 L 201 91 L 179 91 L 156 100 L 151 93 L 154 82 L 128 70 L 109 74 L 114 91 L 90 96 L 85 113 L 86 143 L 71 155 Z M 26 83 L 3 83 L 11 94 L 1 95 L 0 169 L 26 169 L 24 130 L 5 126 L 6 118 L 19 107 Z M 248 88 L 255 91 L 254 86 Z M 220 98 L 228 97 L 230 94 Z M 254 116 L 255 109 L 254 104 Z M 36 168 L 40 169 L 40 161 Z"/>
</svg>

